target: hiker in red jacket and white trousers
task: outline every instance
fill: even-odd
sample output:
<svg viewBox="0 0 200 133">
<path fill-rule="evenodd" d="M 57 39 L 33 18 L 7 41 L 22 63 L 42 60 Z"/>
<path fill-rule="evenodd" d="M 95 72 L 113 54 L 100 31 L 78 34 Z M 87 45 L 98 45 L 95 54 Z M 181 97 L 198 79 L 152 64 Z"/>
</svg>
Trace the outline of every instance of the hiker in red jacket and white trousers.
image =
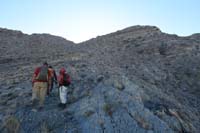
<svg viewBox="0 0 200 133">
<path fill-rule="evenodd" d="M 65 68 L 60 69 L 60 73 L 58 76 L 58 83 L 59 83 L 59 98 L 60 98 L 59 107 L 64 109 L 67 103 L 67 89 L 68 86 L 71 84 L 71 78 L 66 73 Z"/>
</svg>

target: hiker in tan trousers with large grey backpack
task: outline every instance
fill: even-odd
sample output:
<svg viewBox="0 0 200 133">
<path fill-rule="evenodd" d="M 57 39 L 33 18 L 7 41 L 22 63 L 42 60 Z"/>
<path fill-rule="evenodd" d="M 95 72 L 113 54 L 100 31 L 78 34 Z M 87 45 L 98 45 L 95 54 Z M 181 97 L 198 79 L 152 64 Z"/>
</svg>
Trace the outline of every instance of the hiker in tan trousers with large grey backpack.
<svg viewBox="0 0 200 133">
<path fill-rule="evenodd" d="M 37 67 L 34 71 L 32 78 L 32 105 L 35 106 L 37 99 L 39 98 L 39 109 L 44 106 L 45 96 L 47 93 L 48 85 L 50 85 L 50 71 L 48 70 L 48 64 L 45 62 L 43 66 Z"/>
</svg>

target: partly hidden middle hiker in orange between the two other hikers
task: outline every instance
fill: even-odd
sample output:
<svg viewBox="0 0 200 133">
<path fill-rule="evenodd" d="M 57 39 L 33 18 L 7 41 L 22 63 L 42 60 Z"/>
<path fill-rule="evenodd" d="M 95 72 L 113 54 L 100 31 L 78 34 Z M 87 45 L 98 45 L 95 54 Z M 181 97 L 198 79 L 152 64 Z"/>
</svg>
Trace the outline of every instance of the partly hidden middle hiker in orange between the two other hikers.
<svg viewBox="0 0 200 133">
<path fill-rule="evenodd" d="M 49 71 L 50 71 L 51 83 L 50 83 L 50 86 L 48 87 L 47 95 L 49 95 L 50 92 L 52 92 L 53 87 L 54 87 L 54 82 L 55 82 L 55 84 L 57 84 L 56 72 L 52 66 L 49 66 Z"/>
</svg>

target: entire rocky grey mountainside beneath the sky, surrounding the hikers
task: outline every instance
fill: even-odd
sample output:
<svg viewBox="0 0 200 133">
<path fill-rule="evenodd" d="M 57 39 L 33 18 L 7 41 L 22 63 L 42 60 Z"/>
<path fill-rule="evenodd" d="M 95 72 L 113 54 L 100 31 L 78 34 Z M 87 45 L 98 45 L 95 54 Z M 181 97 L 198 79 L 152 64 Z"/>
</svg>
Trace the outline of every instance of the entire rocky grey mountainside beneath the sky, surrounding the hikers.
<svg viewBox="0 0 200 133">
<path fill-rule="evenodd" d="M 30 105 L 44 61 L 71 75 L 67 107 L 55 86 Z M 200 34 L 133 26 L 75 44 L 0 28 L 0 132 L 200 132 Z"/>
</svg>

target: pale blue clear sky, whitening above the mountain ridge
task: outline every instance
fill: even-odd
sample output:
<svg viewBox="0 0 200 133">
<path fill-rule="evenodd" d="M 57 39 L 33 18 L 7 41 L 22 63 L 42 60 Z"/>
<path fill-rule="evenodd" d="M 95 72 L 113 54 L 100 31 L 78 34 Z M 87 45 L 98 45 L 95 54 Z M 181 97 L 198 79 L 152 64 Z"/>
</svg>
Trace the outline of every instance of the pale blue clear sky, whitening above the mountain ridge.
<svg viewBox="0 0 200 133">
<path fill-rule="evenodd" d="M 200 33 L 200 0 L 0 0 L 0 27 L 76 43 L 134 25 Z"/>
</svg>

